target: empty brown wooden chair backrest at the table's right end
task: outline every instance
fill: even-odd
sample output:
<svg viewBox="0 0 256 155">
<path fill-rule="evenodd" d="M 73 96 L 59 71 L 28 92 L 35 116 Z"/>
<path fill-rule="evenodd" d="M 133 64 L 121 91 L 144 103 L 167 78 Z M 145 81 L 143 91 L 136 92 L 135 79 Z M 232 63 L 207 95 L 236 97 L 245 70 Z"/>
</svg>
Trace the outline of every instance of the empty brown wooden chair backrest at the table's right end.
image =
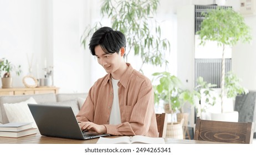
<svg viewBox="0 0 256 155">
<path fill-rule="evenodd" d="M 253 122 L 223 122 L 197 118 L 194 139 L 250 144 L 253 142 L 253 127 Z"/>
</svg>

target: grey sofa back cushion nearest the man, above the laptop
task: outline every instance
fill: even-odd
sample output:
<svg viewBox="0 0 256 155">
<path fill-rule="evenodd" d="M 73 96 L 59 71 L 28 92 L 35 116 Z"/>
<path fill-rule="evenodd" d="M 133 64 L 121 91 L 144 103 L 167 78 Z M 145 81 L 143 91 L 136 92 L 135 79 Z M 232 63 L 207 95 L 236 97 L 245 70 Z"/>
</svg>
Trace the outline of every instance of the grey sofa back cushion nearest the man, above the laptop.
<svg viewBox="0 0 256 155">
<path fill-rule="evenodd" d="M 78 97 L 86 98 L 87 93 L 66 93 L 56 94 L 57 102 L 78 99 Z"/>
</svg>

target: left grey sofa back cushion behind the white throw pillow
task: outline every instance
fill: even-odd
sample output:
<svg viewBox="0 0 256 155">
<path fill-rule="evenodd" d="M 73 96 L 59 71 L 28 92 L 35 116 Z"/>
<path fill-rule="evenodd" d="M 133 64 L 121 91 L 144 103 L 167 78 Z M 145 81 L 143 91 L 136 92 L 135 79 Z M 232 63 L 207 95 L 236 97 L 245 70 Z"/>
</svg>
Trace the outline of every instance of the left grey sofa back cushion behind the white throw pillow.
<svg viewBox="0 0 256 155">
<path fill-rule="evenodd" d="M 3 104 L 14 104 L 28 100 L 30 97 L 39 102 L 57 102 L 56 96 L 53 93 L 50 94 L 34 94 L 34 95 L 17 95 L 17 96 L 0 96 L 0 123 L 8 123 L 6 111 L 4 110 Z"/>
</svg>

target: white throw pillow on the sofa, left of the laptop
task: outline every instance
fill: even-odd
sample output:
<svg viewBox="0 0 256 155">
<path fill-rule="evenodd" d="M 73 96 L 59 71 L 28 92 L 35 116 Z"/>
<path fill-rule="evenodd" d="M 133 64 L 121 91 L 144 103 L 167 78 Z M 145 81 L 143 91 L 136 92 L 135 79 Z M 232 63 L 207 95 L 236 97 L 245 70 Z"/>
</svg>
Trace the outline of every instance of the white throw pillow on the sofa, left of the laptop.
<svg viewBox="0 0 256 155">
<path fill-rule="evenodd" d="M 8 121 L 11 122 L 33 122 L 33 127 L 37 127 L 28 108 L 28 104 L 37 104 L 37 102 L 30 97 L 27 101 L 18 102 L 14 104 L 3 104 Z"/>
</svg>

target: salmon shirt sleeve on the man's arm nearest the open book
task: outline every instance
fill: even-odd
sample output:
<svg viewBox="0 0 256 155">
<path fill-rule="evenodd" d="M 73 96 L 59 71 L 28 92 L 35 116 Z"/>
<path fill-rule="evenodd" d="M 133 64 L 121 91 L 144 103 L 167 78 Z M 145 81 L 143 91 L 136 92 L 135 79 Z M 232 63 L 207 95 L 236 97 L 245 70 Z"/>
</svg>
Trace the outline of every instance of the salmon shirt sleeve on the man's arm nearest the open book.
<svg viewBox="0 0 256 155">
<path fill-rule="evenodd" d="M 156 120 L 152 119 L 152 117 L 155 117 L 153 97 L 152 86 L 147 86 L 144 82 L 140 88 L 136 104 L 132 105 L 133 108 L 131 108 L 131 111 L 127 110 L 128 115 L 130 115 L 130 121 L 121 123 L 120 125 L 105 125 L 107 133 L 111 135 L 157 137 L 157 127 L 155 127 L 155 133 L 149 133 L 150 126 L 156 125 L 156 122 L 153 122 Z"/>
</svg>

